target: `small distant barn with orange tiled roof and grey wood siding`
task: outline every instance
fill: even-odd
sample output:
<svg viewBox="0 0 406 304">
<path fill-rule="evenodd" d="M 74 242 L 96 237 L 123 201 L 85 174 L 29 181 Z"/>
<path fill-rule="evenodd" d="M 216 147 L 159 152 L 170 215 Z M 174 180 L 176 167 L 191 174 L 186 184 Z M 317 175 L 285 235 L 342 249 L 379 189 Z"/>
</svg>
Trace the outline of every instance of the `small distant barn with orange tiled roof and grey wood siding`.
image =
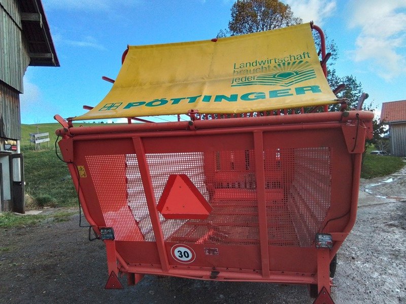
<svg viewBox="0 0 406 304">
<path fill-rule="evenodd" d="M 406 157 L 406 100 L 383 102 L 381 120 L 389 125 L 390 154 Z"/>
</svg>

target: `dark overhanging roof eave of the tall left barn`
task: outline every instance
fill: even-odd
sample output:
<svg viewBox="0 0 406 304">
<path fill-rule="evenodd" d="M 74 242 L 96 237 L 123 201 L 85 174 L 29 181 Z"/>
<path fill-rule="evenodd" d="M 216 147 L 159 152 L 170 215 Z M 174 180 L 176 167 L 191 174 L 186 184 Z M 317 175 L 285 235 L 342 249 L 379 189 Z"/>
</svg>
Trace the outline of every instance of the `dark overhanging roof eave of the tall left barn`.
<svg viewBox="0 0 406 304">
<path fill-rule="evenodd" d="M 20 1 L 23 34 L 28 42 L 29 65 L 59 66 L 41 0 Z"/>
</svg>

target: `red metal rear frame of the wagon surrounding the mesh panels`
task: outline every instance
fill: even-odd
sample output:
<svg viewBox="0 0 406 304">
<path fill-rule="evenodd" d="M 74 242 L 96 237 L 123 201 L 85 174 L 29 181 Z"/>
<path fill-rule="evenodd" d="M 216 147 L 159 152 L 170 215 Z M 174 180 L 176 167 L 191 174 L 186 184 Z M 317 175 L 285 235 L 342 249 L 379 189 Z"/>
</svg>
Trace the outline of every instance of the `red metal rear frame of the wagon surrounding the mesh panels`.
<svg viewBox="0 0 406 304">
<path fill-rule="evenodd" d="M 330 293 L 329 262 L 350 232 L 356 216 L 361 154 L 366 136 L 370 135 L 373 113 L 365 111 L 309 113 L 301 115 L 236 118 L 231 120 L 197 120 L 194 129 L 188 122 L 159 124 L 113 125 L 103 127 L 66 127 L 56 133 L 62 135 L 59 146 L 68 164 L 78 190 L 86 219 L 96 232 L 106 226 L 105 215 L 97 204 L 92 172 L 86 157 L 115 154 L 137 156 L 145 190 L 149 217 L 152 222 L 154 242 L 105 241 L 108 249 L 109 273 L 128 273 L 129 282 L 137 281 L 142 274 L 170 275 L 185 278 L 255 281 L 291 284 L 318 284 Z M 285 140 L 282 140 L 285 138 Z M 334 140 L 331 140 L 334 138 Z M 357 141 L 355 141 L 357 138 Z M 278 142 L 278 144 L 273 144 Z M 210 145 L 208 146 L 208 143 Z M 269 246 L 265 161 L 263 151 L 276 146 L 283 149 L 330 146 L 333 149 L 331 207 L 319 232 L 332 235 L 334 245 L 329 249 L 314 247 Z M 170 259 L 168 250 L 176 242 L 168 242 L 156 209 L 155 188 L 147 155 L 156 153 L 193 153 L 210 149 L 242 149 L 254 151 L 256 204 L 259 228 L 258 245 L 240 245 L 244 257 L 257 262 L 251 267 L 238 267 L 242 256 L 237 247 L 216 245 L 219 256 L 211 266 L 202 262 L 201 252 L 205 242 L 213 236 L 209 231 L 192 246 L 199 256 L 191 265 L 178 264 Z M 87 178 L 81 178 L 76 166 L 85 166 Z M 268 170 L 268 169 L 267 169 Z M 343 192 L 348 189 L 348 193 Z M 341 198 L 340 198 L 341 197 Z M 338 199 L 340 198 L 340 199 Z M 114 246 L 112 245 L 114 244 Z M 191 246 L 189 244 L 189 246 Z M 114 248 L 114 249 L 113 249 Z M 137 250 L 136 248 L 139 248 Z M 114 254 L 112 252 L 115 252 Z M 138 252 L 131 257 L 132 252 Z M 146 258 L 145 253 L 151 255 Z M 224 255 L 223 255 L 224 254 Z M 286 261 L 281 261 L 281 258 Z M 137 262 L 134 259 L 139 259 Z M 117 263 L 118 262 L 118 263 Z M 218 264 L 218 266 L 217 266 Z M 229 267 L 226 265 L 229 264 Z M 255 266 L 254 266 L 255 264 Z M 307 266 L 303 266 L 307 265 Z M 214 265 L 214 268 L 213 268 Z M 213 275 L 213 271 L 215 273 Z M 217 274 L 218 272 L 218 274 Z"/>
</svg>

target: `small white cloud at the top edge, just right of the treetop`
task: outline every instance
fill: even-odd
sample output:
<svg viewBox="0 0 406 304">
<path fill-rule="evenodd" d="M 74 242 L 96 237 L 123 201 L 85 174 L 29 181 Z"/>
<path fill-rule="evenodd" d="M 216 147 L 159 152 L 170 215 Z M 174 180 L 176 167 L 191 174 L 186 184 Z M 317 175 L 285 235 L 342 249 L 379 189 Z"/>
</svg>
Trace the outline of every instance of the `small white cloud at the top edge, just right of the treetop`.
<svg viewBox="0 0 406 304">
<path fill-rule="evenodd" d="M 331 16 L 336 8 L 335 0 L 284 0 L 288 4 L 293 14 L 300 17 L 303 22 L 314 21 L 322 26 L 326 18 Z"/>
</svg>

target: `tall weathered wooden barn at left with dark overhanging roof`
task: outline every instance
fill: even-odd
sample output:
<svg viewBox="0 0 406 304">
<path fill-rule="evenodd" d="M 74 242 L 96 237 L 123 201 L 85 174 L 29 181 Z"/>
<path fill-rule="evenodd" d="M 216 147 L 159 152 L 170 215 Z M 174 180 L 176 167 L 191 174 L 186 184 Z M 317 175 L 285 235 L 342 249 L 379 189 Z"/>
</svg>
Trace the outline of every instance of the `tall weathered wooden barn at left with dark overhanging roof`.
<svg viewBox="0 0 406 304">
<path fill-rule="evenodd" d="M 0 204 L 24 213 L 20 94 L 28 65 L 59 66 L 41 0 L 0 0 Z"/>
</svg>

